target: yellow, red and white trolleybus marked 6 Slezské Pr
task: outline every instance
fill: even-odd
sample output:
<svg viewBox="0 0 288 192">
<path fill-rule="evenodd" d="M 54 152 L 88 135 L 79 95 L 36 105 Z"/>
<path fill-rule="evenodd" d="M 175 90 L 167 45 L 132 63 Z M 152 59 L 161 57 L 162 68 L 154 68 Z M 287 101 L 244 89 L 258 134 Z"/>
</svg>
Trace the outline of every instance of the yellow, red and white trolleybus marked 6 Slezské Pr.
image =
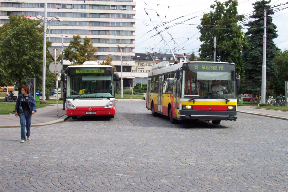
<svg viewBox="0 0 288 192">
<path fill-rule="evenodd" d="M 236 120 L 236 78 L 233 63 L 161 62 L 148 73 L 146 108 L 152 115 L 178 120 Z"/>
</svg>

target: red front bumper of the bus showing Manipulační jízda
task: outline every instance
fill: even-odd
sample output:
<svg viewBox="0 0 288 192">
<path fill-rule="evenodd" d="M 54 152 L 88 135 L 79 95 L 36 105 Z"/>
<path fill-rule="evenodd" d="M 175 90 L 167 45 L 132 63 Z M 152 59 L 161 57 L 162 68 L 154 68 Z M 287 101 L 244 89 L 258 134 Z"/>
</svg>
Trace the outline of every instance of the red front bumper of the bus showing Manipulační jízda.
<svg viewBox="0 0 288 192">
<path fill-rule="evenodd" d="M 88 114 L 86 112 L 88 112 Z M 91 114 L 91 112 L 93 114 Z M 95 112 L 95 114 L 94 114 L 94 112 Z M 66 107 L 66 114 L 67 114 L 67 116 L 115 115 L 115 106 L 113 108 L 110 108 L 110 109 L 105 109 L 104 107 L 77 107 L 76 109 L 68 109 Z"/>
</svg>

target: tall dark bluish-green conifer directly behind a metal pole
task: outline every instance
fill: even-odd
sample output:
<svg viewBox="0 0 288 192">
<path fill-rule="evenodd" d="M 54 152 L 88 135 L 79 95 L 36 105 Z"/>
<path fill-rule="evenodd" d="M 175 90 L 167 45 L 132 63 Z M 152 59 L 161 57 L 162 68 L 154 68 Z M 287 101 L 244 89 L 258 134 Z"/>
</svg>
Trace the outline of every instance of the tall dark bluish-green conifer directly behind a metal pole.
<svg viewBox="0 0 288 192">
<path fill-rule="evenodd" d="M 254 95 L 261 93 L 262 80 L 262 59 L 263 59 L 263 26 L 264 26 L 264 9 L 267 9 L 267 49 L 266 49 L 266 93 L 275 94 L 274 88 L 277 78 L 277 68 L 274 58 L 277 55 L 278 48 L 273 42 L 273 39 L 278 37 L 276 25 L 272 23 L 271 15 L 274 14 L 270 9 L 271 1 L 257 1 L 253 3 L 254 14 L 251 18 L 255 19 L 252 22 L 245 24 L 248 31 L 245 33 L 248 36 L 249 48 L 243 52 L 243 70 L 245 78 L 243 81 L 243 92 Z M 267 95 L 266 94 L 266 95 Z"/>
</svg>

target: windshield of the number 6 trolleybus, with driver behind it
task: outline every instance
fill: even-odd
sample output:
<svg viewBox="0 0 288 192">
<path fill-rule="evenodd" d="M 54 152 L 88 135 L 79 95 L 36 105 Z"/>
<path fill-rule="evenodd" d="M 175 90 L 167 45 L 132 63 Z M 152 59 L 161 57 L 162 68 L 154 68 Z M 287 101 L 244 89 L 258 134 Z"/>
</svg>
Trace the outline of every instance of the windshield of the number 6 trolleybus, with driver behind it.
<svg viewBox="0 0 288 192">
<path fill-rule="evenodd" d="M 218 96 L 235 99 L 235 65 L 216 63 L 183 64 L 182 98 Z"/>
</svg>

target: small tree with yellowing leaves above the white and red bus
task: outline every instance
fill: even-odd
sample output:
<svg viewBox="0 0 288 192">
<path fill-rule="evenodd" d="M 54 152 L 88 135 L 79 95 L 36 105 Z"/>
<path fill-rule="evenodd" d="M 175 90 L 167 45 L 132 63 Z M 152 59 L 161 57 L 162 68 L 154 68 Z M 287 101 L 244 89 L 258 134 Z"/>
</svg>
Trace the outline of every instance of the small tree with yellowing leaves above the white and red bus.
<svg viewBox="0 0 288 192">
<path fill-rule="evenodd" d="M 94 54 L 98 51 L 93 47 L 93 42 L 90 38 L 83 38 L 81 43 L 80 35 L 73 35 L 73 40 L 64 50 L 65 59 L 69 60 L 71 65 L 83 65 L 85 61 L 95 61 Z"/>
</svg>

